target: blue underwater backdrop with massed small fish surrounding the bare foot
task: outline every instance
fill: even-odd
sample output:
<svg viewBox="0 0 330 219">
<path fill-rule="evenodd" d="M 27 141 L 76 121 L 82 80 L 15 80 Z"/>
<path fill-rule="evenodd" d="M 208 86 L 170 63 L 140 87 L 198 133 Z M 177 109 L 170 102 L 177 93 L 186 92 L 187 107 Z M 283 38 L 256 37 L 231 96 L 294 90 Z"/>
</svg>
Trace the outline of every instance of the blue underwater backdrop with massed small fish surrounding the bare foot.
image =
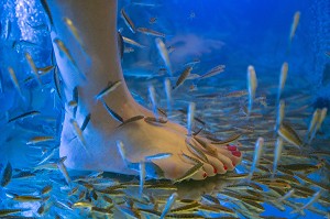
<svg viewBox="0 0 330 219">
<path fill-rule="evenodd" d="M 329 109 L 330 2 L 120 0 L 119 9 L 122 8 L 135 26 L 165 34 L 164 43 L 174 73 L 174 77 L 169 78 L 172 84 L 187 66 L 193 67 L 191 75 L 199 76 L 218 65 L 226 66 L 224 72 L 209 78 L 188 78 L 174 90 L 169 119 L 186 125 L 185 113 L 180 111 L 187 111 L 188 103 L 194 101 L 197 106 L 196 117 L 205 122 L 204 134 L 212 132 L 218 139 L 240 134 L 240 150 L 244 153 L 235 175 L 226 174 L 228 176 L 175 185 L 147 180 L 145 194 L 152 193 L 158 199 L 160 211 L 166 198 L 177 190 L 182 199 L 177 200 L 175 207 L 193 205 L 194 200 L 198 205 L 195 204 L 182 215 L 180 210 L 173 211 L 177 213 L 173 215 L 174 218 L 329 218 L 329 116 L 310 144 L 300 149 L 285 144 L 279 162 L 284 168 L 278 175 L 278 179 L 282 179 L 279 189 L 276 186 L 273 189 L 267 180 L 254 178 L 255 187 L 240 186 L 240 180 L 250 171 L 258 136 L 266 141 L 261 162 L 264 166 L 257 169 L 258 176 L 267 178 L 272 174 L 276 97 L 284 62 L 288 63 L 288 76 L 282 95 L 286 103 L 284 120 L 300 139 L 305 141 L 315 110 Z M 289 40 L 297 11 L 300 12 L 300 19 Z M 0 0 L 0 218 L 10 218 L 9 215 L 35 218 L 157 218 L 156 212 L 141 210 L 155 207 L 151 200 L 139 200 L 139 176 L 69 169 L 73 183 L 67 186 L 67 178 L 56 165 L 64 110 L 54 81 L 56 61 L 46 13 L 38 0 Z M 164 79 L 168 76 L 158 55 L 155 37 L 133 34 L 120 13 L 118 29 L 123 36 L 146 46 L 141 48 L 124 44 L 122 67 L 133 97 L 151 109 L 147 87 L 153 85 L 160 107 L 166 109 Z M 33 75 L 26 53 L 37 66 L 40 80 Z M 245 113 L 249 65 L 254 66 L 257 76 L 254 114 L 250 117 Z M 13 83 L 9 66 L 15 73 L 19 88 Z M 40 135 L 54 139 L 46 143 L 26 144 L 33 136 Z M 9 182 L 6 182 L 8 164 L 12 171 Z M 114 188 L 118 185 L 121 187 Z M 109 186 L 113 186 L 113 193 L 105 195 L 103 189 Z M 287 202 L 278 204 L 279 207 L 267 202 L 283 197 L 292 188 L 295 188 L 295 195 Z M 249 198 L 238 196 L 234 191 Z M 308 204 L 317 191 L 321 191 L 321 197 L 307 207 L 305 213 L 290 213 Z M 20 199 L 20 196 L 29 197 Z M 105 196 L 123 207 L 114 209 L 109 199 L 100 200 Z M 209 196 L 216 197 L 226 209 L 202 209 L 200 206 L 209 205 L 206 200 Z M 134 202 L 133 207 L 128 199 Z M 190 202 L 183 199 L 189 199 Z M 85 206 L 75 205 L 78 201 Z M 257 206 L 253 207 L 249 201 Z M 217 201 L 212 208 L 216 205 Z M 139 212 L 135 212 L 136 209 Z"/>
</svg>

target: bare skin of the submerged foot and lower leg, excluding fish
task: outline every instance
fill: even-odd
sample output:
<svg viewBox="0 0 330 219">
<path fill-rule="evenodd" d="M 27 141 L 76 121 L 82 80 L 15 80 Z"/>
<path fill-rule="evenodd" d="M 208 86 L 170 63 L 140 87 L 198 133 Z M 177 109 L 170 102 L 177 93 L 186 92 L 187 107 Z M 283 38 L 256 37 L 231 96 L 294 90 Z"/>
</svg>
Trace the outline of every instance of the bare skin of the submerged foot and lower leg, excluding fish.
<svg viewBox="0 0 330 219">
<path fill-rule="evenodd" d="M 120 122 L 107 112 L 101 101 L 96 99 L 109 81 L 121 80 L 122 84 L 113 92 L 103 97 L 107 105 L 123 120 L 140 114 L 154 117 L 150 110 L 135 102 L 123 78 L 118 52 L 117 1 L 48 0 L 47 3 L 54 21 L 53 42 L 54 39 L 64 42 L 78 68 L 53 43 L 66 97 L 66 114 L 59 147 L 59 155 L 67 156 L 66 166 L 75 169 L 139 174 L 130 169 L 122 161 L 116 145 L 116 141 L 120 140 L 124 144 L 127 160 L 133 163 L 139 163 L 145 156 L 153 154 L 173 154 L 169 157 L 153 161 L 163 171 L 163 176 L 146 173 L 148 176 L 168 179 L 183 176 L 194 165 L 183 157 L 183 152 L 197 157 L 185 143 L 186 128 L 170 121 L 162 125 L 152 125 L 144 120 L 139 120 L 118 129 Z M 66 26 L 64 18 L 69 18 L 78 30 L 84 50 Z M 87 151 L 80 139 L 75 138 L 76 131 L 70 122 L 73 112 L 67 105 L 73 100 L 73 89 L 76 86 L 79 92 L 77 123 L 81 125 L 85 117 L 88 113 L 91 114 L 90 122 L 82 132 Z M 202 150 L 200 145 L 196 144 L 196 146 Z M 216 154 L 205 151 L 209 163 L 204 162 L 202 168 L 189 178 L 204 179 L 216 174 L 224 174 L 240 163 L 241 153 L 235 149 L 230 147 L 231 151 L 227 146 L 215 146 L 215 149 L 217 149 Z"/>
</svg>

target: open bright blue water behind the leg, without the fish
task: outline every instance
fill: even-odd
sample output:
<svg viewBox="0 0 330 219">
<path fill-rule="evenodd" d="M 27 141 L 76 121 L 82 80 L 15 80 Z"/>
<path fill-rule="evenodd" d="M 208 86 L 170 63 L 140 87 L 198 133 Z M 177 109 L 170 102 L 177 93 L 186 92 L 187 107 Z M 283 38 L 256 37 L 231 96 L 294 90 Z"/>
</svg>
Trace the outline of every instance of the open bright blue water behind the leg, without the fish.
<svg viewBox="0 0 330 219">
<path fill-rule="evenodd" d="M 155 6 L 139 6 L 134 2 L 146 2 Z M 218 131 L 220 136 L 224 128 L 219 128 L 217 124 L 223 122 L 224 117 L 229 118 L 229 122 L 238 122 L 231 120 L 238 114 L 232 111 L 221 111 L 221 108 L 226 107 L 226 101 L 228 105 L 234 105 L 234 101 L 221 98 L 220 100 L 204 100 L 196 97 L 208 94 L 220 96 L 230 91 L 246 89 L 246 68 L 249 65 L 253 65 L 256 70 L 258 78 L 257 96 L 267 96 L 268 108 L 260 106 L 258 112 L 275 117 L 272 110 L 275 108 L 279 70 L 284 62 L 289 64 L 284 92 L 285 98 L 287 98 L 288 111 L 302 106 L 308 107 L 306 111 L 297 114 L 298 119 L 292 117 L 290 120 L 290 122 L 304 127 L 299 129 L 299 134 L 302 135 L 308 128 L 315 108 L 328 107 L 330 109 L 330 2 L 327 0 L 122 0 L 119 2 L 119 8 L 122 7 L 130 14 L 135 26 L 144 26 L 166 34 L 164 40 L 166 46 L 174 47 L 174 52 L 170 54 L 174 76 L 179 76 L 185 68 L 184 65 L 193 59 L 200 61 L 198 65 L 194 66 L 194 74 L 201 75 L 217 65 L 226 65 L 224 73 L 207 80 L 186 81 L 175 94 L 176 103 L 174 106 L 174 109 L 182 109 L 187 107 L 187 102 L 196 101 L 197 113 L 209 122 L 209 131 Z M 289 43 L 290 26 L 296 11 L 301 13 L 300 21 L 295 36 Z M 40 67 L 56 65 L 52 54 L 46 14 L 40 2 L 34 0 L 0 0 L 0 18 L 1 173 L 8 162 L 14 168 L 29 169 L 38 157 L 44 157 L 45 154 L 50 153 L 50 149 L 56 149 L 59 145 L 64 112 L 55 90 L 53 70 L 41 76 L 43 86 L 40 87 L 24 56 L 24 53 L 30 53 L 36 66 Z M 151 18 L 156 18 L 152 24 L 150 23 Z M 134 98 L 148 107 L 146 101 L 147 86 L 152 84 L 157 90 L 158 98 L 162 99 L 160 103 L 166 108 L 165 95 L 161 90 L 167 75 L 160 72 L 164 64 L 157 54 L 154 37 L 133 34 L 120 17 L 118 29 L 121 29 L 122 35 L 148 45 L 146 50 L 134 47 L 134 52 L 125 53 L 123 56 L 122 67 Z M 8 66 L 12 66 L 15 70 L 23 97 L 15 89 L 9 76 Z M 193 90 L 191 86 L 196 90 Z M 306 98 L 299 99 L 299 95 L 306 96 Z M 8 123 L 9 119 L 32 110 L 40 111 L 41 116 Z M 217 110 L 219 110 L 220 117 L 216 116 L 215 111 Z M 186 123 L 183 118 L 176 119 L 176 121 L 184 125 Z M 238 123 L 243 122 L 239 121 Z M 257 119 L 250 121 L 249 124 L 255 125 L 258 130 L 268 129 L 267 124 Z M 317 143 L 312 145 L 315 150 L 329 152 L 329 129 L 330 119 L 328 116 L 317 136 Z M 28 146 L 26 141 L 35 133 L 53 135 L 55 140 L 50 147 Z M 261 131 L 261 133 L 264 132 Z M 257 134 L 251 136 L 251 141 L 255 142 Z M 245 140 L 248 141 L 249 138 Z M 248 143 L 248 145 L 253 146 L 253 143 Z M 56 152 L 54 154 L 56 157 Z M 246 152 L 246 154 L 249 157 L 253 153 Z M 328 167 L 316 172 L 311 177 L 329 185 L 329 155 L 324 158 L 328 158 Z M 284 161 L 287 162 L 287 160 Z M 243 162 L 238 171 L 246 172 L 244 164 Z M 63 190 L 59 189 L 63 182 L 56 180 L 56 178 L 62 177 L 59 173 L 36 172 L 35 174 L 34 180 L 37 189 L 52 183 L 54 186 L 52 198 L 53 196 L 57 196 L 57 199 L 66 198 L 62 193 Z M 45 176 L 46 174 L 51 175 Z M 78 175 L 74 171 L 70 174 L 72 176 Z M 51 180 L 45 179 L 47 177 Z M 128 180 L 111 174 L 107 177 L 113 180 Z M 31 180 L 28 179 L 30 183 Z M 0 188 L 0 209 L 15 206 L 8 194 L 33 194 L 36 189 L 33 185 L 26 185 L 24 182 L 11 184 L 9 188 Z M 210 178 L 206 182 L 180 185 L 178 190 L 186 194 L 187 197 L 198 198 L 198 195 L 191 194 L 193 188 L 198 187 L 199 195 L 217 194 L 221 191 L 221 178 Z M 26 188 L 25 191 L 24 187 Z M 329 199 L 329 190 L 326 190 L 322 196 Z M 302 204 L 308 200 L 308 198 L 294 199 L 294 201 Z M 40 204 L 26 202 L 16 207 L 34 209 L 24 215 L 31 217 L 54 218 L 55 210 L 61 212 L 63 218 L 78 218 L 79 213 L 81 213 L 80 217 L 88 216 L 87 212 L 79 210 L 59 211 L 62 208 L 51 209 L 48 215 L 38 216 L 35 212 L 35 208 L 38 206 Z M 288 215 L 290 208 L 287 208 L 286 211 L 279 211 L 270 205 L 264 205 L 264 207 L 266 210 L 262 216 L 297 217 L 297 215 Z M 314 207 L 323 212 L 330 210 L 329 202 L 326 206 L 317 204 Z M 305 210 L 305 218 L 323 218 L 309 210 Z M 239 217 L 243 218 L 242 215 Z M 304 217 L 300 216 L 300 218 Z"/>
</svg>

